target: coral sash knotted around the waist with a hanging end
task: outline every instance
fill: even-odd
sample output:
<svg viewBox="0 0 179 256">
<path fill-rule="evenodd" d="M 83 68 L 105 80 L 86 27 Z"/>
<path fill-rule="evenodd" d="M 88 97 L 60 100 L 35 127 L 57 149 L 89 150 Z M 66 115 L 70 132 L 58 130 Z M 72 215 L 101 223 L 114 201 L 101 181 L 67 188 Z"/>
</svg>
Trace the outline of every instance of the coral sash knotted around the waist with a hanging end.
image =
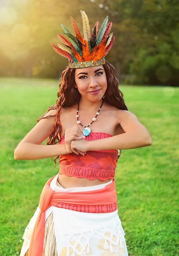
<svg viewBox="0 0 179 256">
<path fill-rule="evenodd" d="M 83 192 L 57 192 L 50 188 L 50 182 L 54 177 L 46 182 L 40 195 L 40 212 L 33 229 L 28 256 L 43 255 L 45 211 L 50 206 L 90 213 L 107 213 L 117 210 L 115 179 L 102 189 Z"/>
</svg>

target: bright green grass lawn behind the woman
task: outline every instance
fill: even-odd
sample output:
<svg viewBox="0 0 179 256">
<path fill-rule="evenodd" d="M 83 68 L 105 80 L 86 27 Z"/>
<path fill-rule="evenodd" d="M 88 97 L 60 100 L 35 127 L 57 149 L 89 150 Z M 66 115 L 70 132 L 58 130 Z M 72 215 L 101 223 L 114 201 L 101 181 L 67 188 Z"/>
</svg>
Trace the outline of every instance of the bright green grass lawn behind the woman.
<svg viewBox="0 0 179 256">
<path fill-rule="evenodd" d="M 129 111 L 150 132 L 153 144 L 122 150 L 116 169 L 118 211 L 130 256 L 176 256 L 179 88 L 121 85 Z M 58 80 L 1 78 L 0 255 L 19 255 L 24 228 L 48 178 L 53 158 L 14 160 L 13 151 L 50 105 Z M 45 143 L 45 142 L 44 142 Z"/>
</svg>

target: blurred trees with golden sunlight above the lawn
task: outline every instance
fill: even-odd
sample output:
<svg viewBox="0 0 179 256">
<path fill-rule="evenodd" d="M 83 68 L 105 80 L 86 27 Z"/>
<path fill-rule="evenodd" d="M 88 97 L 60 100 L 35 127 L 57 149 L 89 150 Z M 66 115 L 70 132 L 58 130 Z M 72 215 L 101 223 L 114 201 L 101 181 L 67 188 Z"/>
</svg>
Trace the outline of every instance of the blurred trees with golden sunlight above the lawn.
<svg viewBox="0 0 179 256">
<path fill-rule="evenodd" d="M 116 37 L 106 59 L 120 83 L 178 86 L 178 0 L 0 0 L 0 76 L 57 78 L 68 60 L 54 53 L 63 23 L 82 33 L 80 9 L 90 28 L 109 15 Z M 83 35 L 83 34 L 82 34 Z"/>
</svg>

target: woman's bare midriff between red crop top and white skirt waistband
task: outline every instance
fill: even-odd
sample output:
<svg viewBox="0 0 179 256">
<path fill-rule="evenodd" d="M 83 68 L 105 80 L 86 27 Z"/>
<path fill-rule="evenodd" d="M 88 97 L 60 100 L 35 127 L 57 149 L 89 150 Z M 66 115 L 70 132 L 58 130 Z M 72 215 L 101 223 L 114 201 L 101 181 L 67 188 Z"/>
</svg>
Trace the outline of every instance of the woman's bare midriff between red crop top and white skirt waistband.
<svg viewBox="0 0 179 256">
<path fill-rule="evenodd" d="M 63 187 L 63 188 L 73 188 L 73 187 L 88 187 L 88 186 L 96 186 L 99 184 L 107 183 L 111 179 L 107 180 L 99 180 L 99 179 L 94 179 L 94 180 L 89 180 L 86 178 L 76 178 L 72 176 L 67 176 L 65 174 L 58 174 L 58 183 Z"/>
</svg>

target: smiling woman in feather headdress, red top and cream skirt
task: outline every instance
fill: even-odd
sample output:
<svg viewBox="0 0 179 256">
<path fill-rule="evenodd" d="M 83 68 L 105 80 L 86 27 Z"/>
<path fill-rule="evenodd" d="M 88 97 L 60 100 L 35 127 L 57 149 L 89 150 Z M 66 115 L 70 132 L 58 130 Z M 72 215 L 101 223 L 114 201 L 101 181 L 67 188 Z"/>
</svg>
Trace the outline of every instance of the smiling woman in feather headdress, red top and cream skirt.
<svg viewBox="0 0 179 256">
<path fill-rule="evenodd" d="M 60 157 L 59 173 L 45 184 L 24 235 L 20 255 L 128 255 L 117 210 L 115 168 L 120 150 L 151 145 L 147 129 L 128 111 L 115 68 L 105 61 L 114 37 L 108 17 L 90 35 L 81 11 L 84 38 L 52 44 L 67 57 L 58 99 L 24 137 L 15 159 Z M 40 145 L 49 137 L 47 146 Z M 59 144 L 56 144 L 59 142 Z"/>
</svg>

